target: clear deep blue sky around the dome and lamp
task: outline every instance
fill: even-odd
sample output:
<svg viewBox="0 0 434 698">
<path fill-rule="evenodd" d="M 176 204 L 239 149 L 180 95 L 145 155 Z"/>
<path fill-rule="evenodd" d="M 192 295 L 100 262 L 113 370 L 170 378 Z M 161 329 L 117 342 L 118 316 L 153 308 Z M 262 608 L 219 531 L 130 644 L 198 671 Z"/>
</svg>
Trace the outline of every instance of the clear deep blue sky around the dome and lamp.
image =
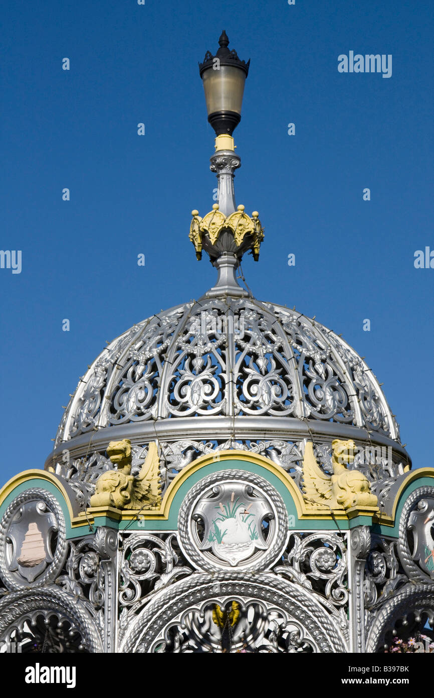
<svg viewBox="0 0 434 698">
<path fill-rule="evenodd" d="M 414 466 L 434 465 L 434 269 L 414 268 L 414 251 L 434 250 L 433 12 L 425 0 L 3 8 L 0 245 L 22 251 L 21 274 L 0 269 L 3 482 L 43 467 L 106 340 L 215 282 L 187 236 L 216 186 L 197 64 L 222 29 L 251 58 L 235 192 L 265 241 L 247 282 L 366 356 Z M 392 77 L 339 73 L 350 50 L 392 54 Z"/>
</svg>

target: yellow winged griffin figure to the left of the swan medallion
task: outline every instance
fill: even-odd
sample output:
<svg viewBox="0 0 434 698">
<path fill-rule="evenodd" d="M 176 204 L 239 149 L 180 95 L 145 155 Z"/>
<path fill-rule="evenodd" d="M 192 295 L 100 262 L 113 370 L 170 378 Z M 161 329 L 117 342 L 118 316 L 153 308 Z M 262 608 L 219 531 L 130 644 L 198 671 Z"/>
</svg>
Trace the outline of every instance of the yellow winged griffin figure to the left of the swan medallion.
<svg viewBox="0 0 434 698">
<path fill-rule="evenodd" d="M 116 470 L 106 470 L 96 482 L 91 507 L 116 509 L 159 509 L 161 505 L 160 460 L 157 444 L 148 447 L 143 466 L 137 477 L 131 475 L 131 441 L 111 441 L 107 447 L 109 459 Z"/>
</svg>

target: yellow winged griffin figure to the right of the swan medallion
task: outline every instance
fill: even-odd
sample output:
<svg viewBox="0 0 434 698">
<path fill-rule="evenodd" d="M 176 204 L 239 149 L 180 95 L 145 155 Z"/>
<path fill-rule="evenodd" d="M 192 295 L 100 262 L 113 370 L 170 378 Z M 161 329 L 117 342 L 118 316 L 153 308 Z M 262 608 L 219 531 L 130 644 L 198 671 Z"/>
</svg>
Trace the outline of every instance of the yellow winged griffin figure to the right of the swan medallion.
<svg viewBox="0 0 434 698">
<path fill-rule="evenodd" d="M 313 455 L 308 441 L 303 458 L 303 492 L 307 507 L 316 509 L 352 509 L 377 507 L 378 499 L 371 493 L 369 480 L 359 470 L 347 470 L 345 463 L 354 461 L 355 443 L 351 439 L 332 441 L 333 475 L 326 475 Z"/>
</svg>

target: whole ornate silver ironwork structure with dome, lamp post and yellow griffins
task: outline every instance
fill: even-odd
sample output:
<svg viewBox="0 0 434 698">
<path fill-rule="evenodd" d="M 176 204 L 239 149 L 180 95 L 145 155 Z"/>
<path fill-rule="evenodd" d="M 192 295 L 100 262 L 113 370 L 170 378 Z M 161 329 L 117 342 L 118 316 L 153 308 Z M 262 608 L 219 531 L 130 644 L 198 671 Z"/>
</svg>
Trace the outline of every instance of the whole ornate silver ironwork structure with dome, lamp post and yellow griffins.
<svg viewBox="0 0 434 698">
<path fill-rule="evenodd" d="M 210 109 L 218 202 L 192 211 L 189 235 L 217 283 L 109 343 L 65 408 L 47 489 L 24 473 L 3 491 L 0 640 L 23 651 L 361 653 L 434 637 L 434 485 L 408 494 L 378 380 L 315 318 L 238 284 L 263 228 L 233 189 L 249 64 L 219 43 L 200 70 L 238 73 L 238 111 Z M 224 469 L 234 449 L 246 457 Z"/>
</svg>

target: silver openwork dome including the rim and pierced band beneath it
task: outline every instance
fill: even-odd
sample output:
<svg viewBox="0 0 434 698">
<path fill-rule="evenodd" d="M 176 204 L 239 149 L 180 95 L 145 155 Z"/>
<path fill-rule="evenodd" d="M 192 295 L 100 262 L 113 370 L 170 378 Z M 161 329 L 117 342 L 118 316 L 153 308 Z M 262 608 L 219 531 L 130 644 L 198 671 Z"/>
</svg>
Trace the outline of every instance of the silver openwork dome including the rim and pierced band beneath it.
<svg viewBox="0 0 434 698">
<path fill-rule="evenodd" d="M 153 315 L 104 348 L 79 379 L 45 468 L 85 507 L 113 468 L 107 444 L 123 438 L 135 468 L 157 439 L 163 493 L 193 459 L 227 448 L 268 456 L 300 488 L 307 438 L 326 463 L 334 438 L 355 440 L 355 467 L 372 482 L 410 461 L 378 380 L 343 339 L 302 313 L 228 295 Z"/>
</svg>

